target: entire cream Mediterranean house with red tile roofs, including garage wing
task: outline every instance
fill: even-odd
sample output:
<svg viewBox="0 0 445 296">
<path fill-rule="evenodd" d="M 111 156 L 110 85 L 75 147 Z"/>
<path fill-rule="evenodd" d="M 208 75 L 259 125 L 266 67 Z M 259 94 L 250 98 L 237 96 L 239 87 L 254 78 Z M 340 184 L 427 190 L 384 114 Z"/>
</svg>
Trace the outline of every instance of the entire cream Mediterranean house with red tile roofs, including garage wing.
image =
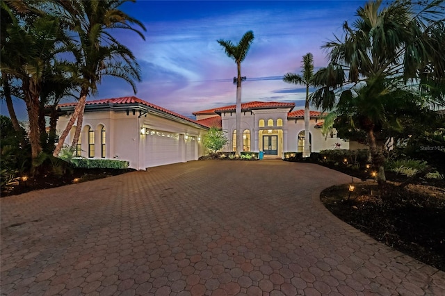
<svg viewBox="0 0 445 296">
<path fill-rule="evenodd" d="M 76 103 L 58 105 L 56 129 L 63 131 Z M 252 101 L 241 106 L 243 150 L 263 151 L 266 157 L 284 158 L 304 147 L 304 110 L 295 104 Z M 235 105 L 193 113 L 196 120 L 137 97 L 87 101 L 76 156 L 118 158 L 129 167 L 147 167 L 197 160 L 204 155 L 202 138 L 211 126 L 223 129 L 229 142 L 223 151 L 236 147 Z M 349 142 L 335 132 L 321 133 L 320 113 L 311 111 L 310 147 L 349 149 Z M 66 142 L 74 137 L 75 126 Z"/>
</svg>

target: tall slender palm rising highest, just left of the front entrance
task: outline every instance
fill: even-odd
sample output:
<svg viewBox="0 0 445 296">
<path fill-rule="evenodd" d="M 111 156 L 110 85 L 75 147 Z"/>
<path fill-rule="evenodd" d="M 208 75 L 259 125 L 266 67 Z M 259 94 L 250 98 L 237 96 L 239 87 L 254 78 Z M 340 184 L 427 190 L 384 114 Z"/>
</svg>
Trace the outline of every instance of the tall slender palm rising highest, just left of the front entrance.
<svg viewBox="0 0 445 296">
<path fill-rule="evenodd" d="M 240 155 L 243 151 L 243 133 L 241 132 L 241 62 L 247 56 L 250 49 L 250 44 L 254 40 L 254 35 L 252 31 L 246 32 L 237 45 L 234 45 L 230 40 L 217 40 L 217 42 L 224 47 L 225 53 L 229 58 L 232 58 L 236 63 L 236 69 L 238 75 L 236 76 L 236 108 L 235 108 L 235 119 L 236 119 L 236 154 Z"/>
</svg>

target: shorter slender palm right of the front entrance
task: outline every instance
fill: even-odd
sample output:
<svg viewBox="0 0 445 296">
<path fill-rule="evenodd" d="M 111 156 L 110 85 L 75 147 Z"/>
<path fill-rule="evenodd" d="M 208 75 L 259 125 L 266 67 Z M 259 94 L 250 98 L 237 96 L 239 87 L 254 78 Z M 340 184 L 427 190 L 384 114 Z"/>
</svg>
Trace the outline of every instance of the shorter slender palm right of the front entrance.
<svg viewBox="0 0 445 296">
<path fill-rule="evenodd" d="M 314 85 L 314 56 L 309 52 L 303 56 L 301 63 L 302 76 L 295 73 L 286 73 L 283 81 L 293 84 L 301 84 L 306 86 L 306 100 L 305 100 L 305 147 L 303 148 L 303 157 L 311 156 L 311 149 L 309 148 L 309 86 Z"/>
</svg>

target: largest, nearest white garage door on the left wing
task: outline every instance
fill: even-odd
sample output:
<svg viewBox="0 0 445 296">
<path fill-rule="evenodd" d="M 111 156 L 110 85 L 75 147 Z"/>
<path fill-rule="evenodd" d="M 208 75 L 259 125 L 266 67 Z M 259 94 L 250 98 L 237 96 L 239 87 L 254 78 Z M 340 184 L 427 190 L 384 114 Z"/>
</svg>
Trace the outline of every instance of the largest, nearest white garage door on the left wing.
<svg viewBox="0 0 445 296">
<path fill-rule="evenodd" d="M 181 162 L 179 135 L 163 131 L 149 131 L 145 136 L 147 167 Z"/>
</svg>

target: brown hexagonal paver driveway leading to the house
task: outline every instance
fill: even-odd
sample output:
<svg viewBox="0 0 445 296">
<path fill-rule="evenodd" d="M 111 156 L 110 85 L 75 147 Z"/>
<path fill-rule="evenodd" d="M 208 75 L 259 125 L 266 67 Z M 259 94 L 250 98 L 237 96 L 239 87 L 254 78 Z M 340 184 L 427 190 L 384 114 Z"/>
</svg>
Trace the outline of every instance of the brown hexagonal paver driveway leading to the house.
<svg viewBox="0 0 445 296">
<path fill-rule="evenodd" d="M 350 177 L 195 161 L 1 199 L 3 295 L 444 295 L 445 273 L 337 220 Z"/>
</svg>

